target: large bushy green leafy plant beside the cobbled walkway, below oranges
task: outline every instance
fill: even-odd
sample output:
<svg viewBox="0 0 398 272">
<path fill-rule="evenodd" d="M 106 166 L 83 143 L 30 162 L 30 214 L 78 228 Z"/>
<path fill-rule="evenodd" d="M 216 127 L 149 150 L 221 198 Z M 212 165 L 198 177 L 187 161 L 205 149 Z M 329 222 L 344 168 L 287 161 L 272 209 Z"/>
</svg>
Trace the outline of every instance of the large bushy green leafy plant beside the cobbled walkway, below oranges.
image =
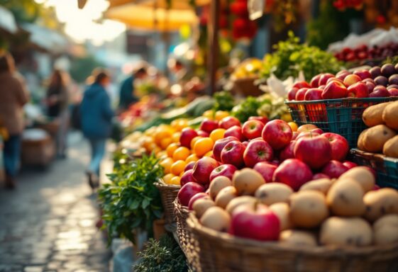
<svg viewBox="0 0 398 272">
<path fill-rule="evenodd" d="M 154 154 L 143 155 L 133 162 L 118 164 L 109 174 L 111 183 L 99 189 L 102 219 L 111 237 L 126 237 L 133 242 L 133 230 L 153 234 L 153 220 L 162 215 L 159 190 L 154 182 L 163 176 L 162 166 Z"/>
</svg>

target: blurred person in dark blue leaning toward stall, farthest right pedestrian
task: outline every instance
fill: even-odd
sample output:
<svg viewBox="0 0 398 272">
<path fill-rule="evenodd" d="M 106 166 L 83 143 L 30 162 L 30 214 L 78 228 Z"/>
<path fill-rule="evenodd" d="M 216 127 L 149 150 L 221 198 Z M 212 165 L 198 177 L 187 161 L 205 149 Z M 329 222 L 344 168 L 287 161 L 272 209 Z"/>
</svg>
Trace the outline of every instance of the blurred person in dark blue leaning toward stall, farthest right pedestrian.
<svg viewBox="0 0 398 272">
<path fill-rule="evenodd" d="M 125 79 L 121 84 L 119 94 L 119 111 L 126 110 L 132 103 L 138 101 L 137 96 L 134 94 L 134 81 L 136 79 L 145 79 L 148 76 L 147 69 L 144 65 L 141 65 L 130 77 Z"/>
</svg>

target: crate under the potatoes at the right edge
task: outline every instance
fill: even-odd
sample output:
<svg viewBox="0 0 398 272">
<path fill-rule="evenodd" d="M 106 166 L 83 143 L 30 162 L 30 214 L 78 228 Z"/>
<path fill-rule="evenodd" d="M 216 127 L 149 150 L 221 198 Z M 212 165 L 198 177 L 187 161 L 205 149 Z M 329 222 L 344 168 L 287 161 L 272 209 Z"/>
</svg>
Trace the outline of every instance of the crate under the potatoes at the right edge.
<svg viewBox="0 0 398 272">
<path fill-rule="evenodd" d="M 385 157 L 382 154 L 363 152 L 356 148 L 351 149 L 350 153 L 353 156 L 353 162 L 356 164 L 375 169 L 378 186 L 398 190 L 398 159 Z"/>
</svg>

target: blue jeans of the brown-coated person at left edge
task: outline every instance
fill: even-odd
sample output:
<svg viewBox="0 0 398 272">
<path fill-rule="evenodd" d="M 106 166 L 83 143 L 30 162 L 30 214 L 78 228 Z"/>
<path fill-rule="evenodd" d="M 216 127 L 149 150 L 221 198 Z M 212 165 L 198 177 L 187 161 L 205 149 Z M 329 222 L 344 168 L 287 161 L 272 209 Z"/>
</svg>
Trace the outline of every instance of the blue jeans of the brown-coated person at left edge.
<svg viewBox="0 0 398 272">
<path fill-rule="evenodd" d="M 4 142 L 4 169 L 6 174 L 15 177 L 18 173 L 21 155 L 21 135 L 12 135 Z"/>
</svg>

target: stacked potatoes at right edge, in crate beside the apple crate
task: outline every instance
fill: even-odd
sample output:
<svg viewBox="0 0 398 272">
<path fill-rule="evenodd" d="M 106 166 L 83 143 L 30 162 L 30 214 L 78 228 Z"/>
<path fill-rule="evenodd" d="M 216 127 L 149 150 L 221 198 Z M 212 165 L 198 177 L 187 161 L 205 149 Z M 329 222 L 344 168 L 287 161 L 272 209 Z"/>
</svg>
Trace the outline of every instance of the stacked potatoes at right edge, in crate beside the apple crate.
<svg viewBox="0 0 398 272">
<path fill-rule="evenodd" d="M 370 128 L 360 134 L 358 148 L 398 158 L 398 101 L 370 106 L 363 122 Z"/>
</svg>

